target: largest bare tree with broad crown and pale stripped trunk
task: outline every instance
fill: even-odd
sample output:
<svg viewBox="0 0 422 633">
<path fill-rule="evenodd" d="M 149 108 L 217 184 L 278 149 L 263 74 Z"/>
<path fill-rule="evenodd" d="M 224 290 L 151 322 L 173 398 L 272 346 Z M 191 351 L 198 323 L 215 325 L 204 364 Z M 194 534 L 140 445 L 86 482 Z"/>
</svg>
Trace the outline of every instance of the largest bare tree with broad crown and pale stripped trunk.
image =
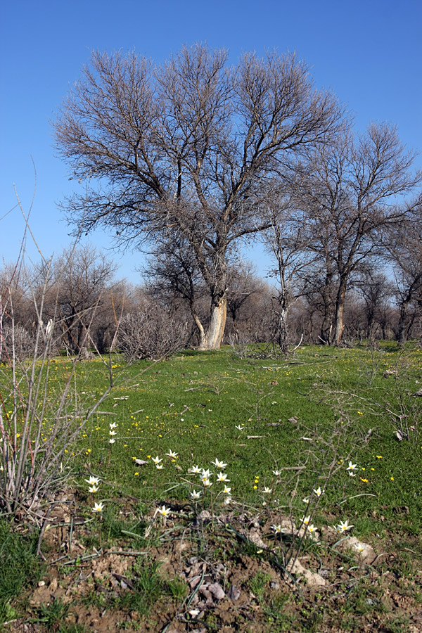
<svg viewBox="0 0 422 633">
<path fill-rule="evenodd" d="M 137 247 L 178 234 L 210 292 L 203 349 L 218 348 L 234 243 L 264 224 L 260 203 L 283 162 L 334 134 L 341 113 L 294 55 L 196 44 L 160 67 L 94 53 L 55 124 L 60 155 L 84 193 L 65 203 L 79 230 L 113 228 Z"/>
</svg>

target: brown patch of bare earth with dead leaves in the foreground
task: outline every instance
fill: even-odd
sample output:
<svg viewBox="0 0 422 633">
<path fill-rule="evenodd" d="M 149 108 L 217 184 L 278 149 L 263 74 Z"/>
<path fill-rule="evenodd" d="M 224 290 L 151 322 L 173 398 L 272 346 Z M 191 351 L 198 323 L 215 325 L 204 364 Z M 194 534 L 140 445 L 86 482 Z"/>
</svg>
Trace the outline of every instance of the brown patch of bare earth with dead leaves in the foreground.
<svg viewBox="0 0 422 633">
<path fill-rule="evenodd" d="M 56 513 L 62 524 L 72 516 L 65 504 Z M 154 545 L 119 539 L 99 547 L 84 545 L 90 524 L 78 525 L 76 518 L 71 542 L 68 525 L 53 522 L 47 530 L 48 574 L 25 599 L 25 616 L 6 631 L 58 631 L 46 629 L 37 614 L 41 604 L 60 600 L 68 606 L 61 626 L 93 633 L 422 632 L 419 539 L 406 574 L 398 570 L 399 552 L 373 546 L 364 560 L 347 541 L 343 550 L 307 548 L 287 574 L 276 564 L 270 526 L 248 516 L 224 516 L 214 526 L 209 519 L 185 518 L 183 526 L 179 518 L 167 520 Z M 323 537 L 333 543 L 332 535 Z M 141 613 L 131 600 L 141 591 L 139 570 L 155 567 L 162 590 Z M 170 591 L 176 582 L 184 589 L 179 594 Z"/>
</svg>

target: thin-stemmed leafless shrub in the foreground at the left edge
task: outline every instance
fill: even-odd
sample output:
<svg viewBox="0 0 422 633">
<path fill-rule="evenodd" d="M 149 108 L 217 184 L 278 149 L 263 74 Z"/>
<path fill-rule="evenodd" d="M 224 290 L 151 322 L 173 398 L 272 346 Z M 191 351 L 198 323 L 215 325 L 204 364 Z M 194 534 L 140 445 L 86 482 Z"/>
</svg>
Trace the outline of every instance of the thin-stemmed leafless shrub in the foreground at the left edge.
<svg viewBox="0 0 422 633">
<path fill-rule="evenodd" d="M 0 315 L 1 355 L 7 359 L 0 366 L 0 511 L 37 523 L 48 516 L 46 502 L 68 479 L 77 437 L 112 382 L 94 404 L 87 404 L 75 383 L 80 359 L 63 359 L 60 373 L 57 359 L 51 358 L 54 331 L 60 323 L 44 316 L 50 263 L 43 290 L 32 295 L 37 314 L 34 336 L 15 323 L 13 304 L 5 296 Z"/>
</svg>

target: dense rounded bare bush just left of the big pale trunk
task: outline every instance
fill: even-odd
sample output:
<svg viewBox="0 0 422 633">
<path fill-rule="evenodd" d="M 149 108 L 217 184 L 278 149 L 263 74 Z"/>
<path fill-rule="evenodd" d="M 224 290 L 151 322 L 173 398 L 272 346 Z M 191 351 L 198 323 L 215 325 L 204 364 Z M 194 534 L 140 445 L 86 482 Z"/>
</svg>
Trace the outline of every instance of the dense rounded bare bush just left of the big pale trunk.
<svg viewBox="0 0 422 633">
<path fill-rule="evenodd" d="M 184 347 L 187 339 L 186 321 L 172 316 L 158 302 L 143 298 L 136 312 L 120 319 L 117 347 L 131 360 L 156 360 Z"/>
</svg>

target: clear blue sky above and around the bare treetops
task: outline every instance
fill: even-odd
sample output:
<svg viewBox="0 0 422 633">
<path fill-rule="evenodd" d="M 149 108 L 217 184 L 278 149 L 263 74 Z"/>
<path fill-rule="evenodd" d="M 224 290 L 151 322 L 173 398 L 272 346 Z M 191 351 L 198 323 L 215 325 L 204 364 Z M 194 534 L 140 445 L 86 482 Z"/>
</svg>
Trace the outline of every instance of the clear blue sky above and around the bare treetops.
<svg viewBox="0 0 422 633">
<path fill-rule="evenodd" d="M 54 156 L 50 121 L 93 49 L 136 50 L 158 63 L 195 41 L 229 49 L 232 61 L 242 51 L 297 51 L 316 86 L 331 89 L 354 113 L 357 129 L 394 123 L 409 148 L 422 150 L 421 0 L 4 0 L 0 29 L 0 256 L 6 262 L 17 257 L 23 235 L 13 184 L 27 211 L 32 159 L 32 231 L 45 255 L 70 244 L 56 203 L 72 182 Z M 102 232 L 89 239 L 98 248 L 113 245 Z M 29 241 L 27 248 L 34 253 Z M 245 254 L 264 274 L 260 250 Z M 140 281 L 139 254 L 113 257 L 118 276 Z"/>
</svg>

